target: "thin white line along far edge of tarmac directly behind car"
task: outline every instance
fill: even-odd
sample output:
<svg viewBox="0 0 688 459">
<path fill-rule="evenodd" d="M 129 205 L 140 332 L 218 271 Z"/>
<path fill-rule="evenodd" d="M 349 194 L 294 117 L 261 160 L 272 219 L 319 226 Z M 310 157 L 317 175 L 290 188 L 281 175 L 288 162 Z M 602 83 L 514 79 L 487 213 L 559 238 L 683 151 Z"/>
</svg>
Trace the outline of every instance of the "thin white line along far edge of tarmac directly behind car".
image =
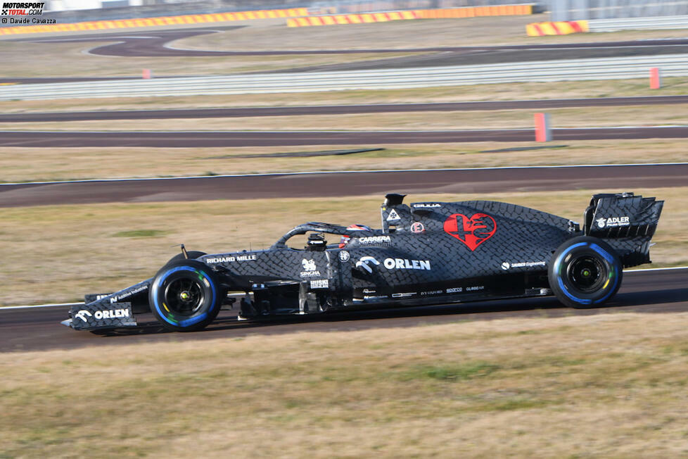
<svg viewBox="0 0 688 459">
<path fill-rule="evenodd" d="M 510 165 L 492 168 L 444 168 L 444 169 L 372 169 L 372 170 L 321 170 L 310 172 L 266 172 L 263 174 L 225 174 L 225 175 L 184 175 L 181 177 L 139 177 L 121 179 L 87 179 L 87 180 L 62 180 L 53 182 L 10 182 L 0 183 L 0 187 L 16 185 L 53 185 L 68 183 L 89 183 L 89 182 L 143 182 L 146 180 L 188 180 L 188 179 L 212 179 L 212 178 L 231 178 L 231 177 L 276 177 L 282 175 L 319 175 L 319 174 L 362 174 L 370 172 L 441 172 L 459 170 L 504 170 L 504 169 L 566 169 L 566 168 L 616 168 L 628 166 L 649 166 L 649 165 L 688 165 L 688 163 L 624 163 L 624 164 L 571 164 L 571 165 Z"/>
</svg>

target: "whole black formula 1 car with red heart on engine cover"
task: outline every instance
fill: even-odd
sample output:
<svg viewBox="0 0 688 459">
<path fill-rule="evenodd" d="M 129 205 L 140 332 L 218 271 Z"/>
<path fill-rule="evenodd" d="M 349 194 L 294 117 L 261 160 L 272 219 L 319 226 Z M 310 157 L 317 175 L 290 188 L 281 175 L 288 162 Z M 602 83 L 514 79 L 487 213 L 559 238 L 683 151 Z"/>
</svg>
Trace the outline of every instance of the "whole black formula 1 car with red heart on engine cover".
<svg viewBox="0 0 688 459">
<path fill-rule="evenodd" d="M 209 255 L 182 246 L 151 279 L 87 295 L 63 324 L 136 327 L 136 315 L 150 312 L 167 329 L 198 330 L 237 296 L 240 320 L 551 294 L 590 308 L 616 294 L 623 268 L 650 263 L 663 206 L 632 193 L 596 194 L 581 228 L 514 204 L 403 200 L 386 196 L 381 230 L 311 222 L 267 250 Z"/>
</svg>

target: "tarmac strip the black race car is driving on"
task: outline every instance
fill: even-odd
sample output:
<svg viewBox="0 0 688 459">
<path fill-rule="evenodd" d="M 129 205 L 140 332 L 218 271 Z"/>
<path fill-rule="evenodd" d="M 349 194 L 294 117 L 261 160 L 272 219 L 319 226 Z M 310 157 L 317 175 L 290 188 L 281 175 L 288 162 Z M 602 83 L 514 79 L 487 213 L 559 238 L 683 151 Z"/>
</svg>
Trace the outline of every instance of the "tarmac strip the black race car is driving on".
<svg viewBox="0 0 688 459">
<path fill-rule="evenodd" d="M 152 315 L 143 315 L 142 326 L 112 336 L 75 332 L 60 325 L 68 307 L 4 310 L 0 308 L 0 351 L 45 351 L 50 349 L 117 346 L 152 342 L 199 341 L 203 339 L 289 334 L 303 331 L 338 332 L 390 327 L 415 327 L 458 320 L 497 320 L 508 317 L 565 317 L 607 313 L 683 313 L 688 311 L 687 269 L 625 272 L 619 293 L 606 307 L 564 308 L 554 298 L 486 301 L 423 308 L 336 313 L 314 317 L 288 317 L 270 322 L 237 322 L 236 312 L 222 312 L 202 332 L 172 333 L 163 330 Z M 145 322 L 145 323 L 143 323 Z"/>
</svg>

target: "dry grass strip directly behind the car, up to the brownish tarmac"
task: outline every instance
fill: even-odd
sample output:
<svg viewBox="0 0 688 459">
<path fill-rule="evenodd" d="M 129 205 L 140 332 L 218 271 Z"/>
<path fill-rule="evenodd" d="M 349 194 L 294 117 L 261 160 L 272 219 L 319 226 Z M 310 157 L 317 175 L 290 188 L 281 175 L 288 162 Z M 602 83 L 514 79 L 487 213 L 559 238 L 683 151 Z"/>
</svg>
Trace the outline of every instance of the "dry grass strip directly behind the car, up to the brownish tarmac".
<svg viewBox="0 0 688 459">
<path fill-rule="evenodd" d="M 409 201 L 492 199 L 580 221 L 590 196 L 601 191 L 413 194 Z M 688 264 L 688 188 L 628 191 L 666 201 L 653 238 L 653 266 Z M 11 276 L 0 304 L 78 301 L 83 294 L 126 287 L 155 274 L 179 253 L 180 243 L 221 253 L 266 248 L 289 228 L 313 220 L 378 227 L 382 199 L 357 197 L 353 207 L 349 199 L 255 199 L 0 208 L 0 235 L 8 248 L 1 271 Z"/>
</svg>

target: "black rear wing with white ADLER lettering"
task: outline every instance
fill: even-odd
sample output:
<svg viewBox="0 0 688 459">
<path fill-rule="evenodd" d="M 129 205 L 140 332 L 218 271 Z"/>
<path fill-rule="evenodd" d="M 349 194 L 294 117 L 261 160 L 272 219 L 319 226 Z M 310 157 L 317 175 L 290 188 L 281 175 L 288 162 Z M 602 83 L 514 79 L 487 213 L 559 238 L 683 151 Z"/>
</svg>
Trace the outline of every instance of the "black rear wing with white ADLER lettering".
<svg viewBox="0 0 688 459">
<path fill-rule="evenodd" d="M 595 194 L 583 213 L 583 232 L 609 242 L 626 268 L 650 263 L 649 242 L 663 205 L 633 193 Z"/>
</svg>

